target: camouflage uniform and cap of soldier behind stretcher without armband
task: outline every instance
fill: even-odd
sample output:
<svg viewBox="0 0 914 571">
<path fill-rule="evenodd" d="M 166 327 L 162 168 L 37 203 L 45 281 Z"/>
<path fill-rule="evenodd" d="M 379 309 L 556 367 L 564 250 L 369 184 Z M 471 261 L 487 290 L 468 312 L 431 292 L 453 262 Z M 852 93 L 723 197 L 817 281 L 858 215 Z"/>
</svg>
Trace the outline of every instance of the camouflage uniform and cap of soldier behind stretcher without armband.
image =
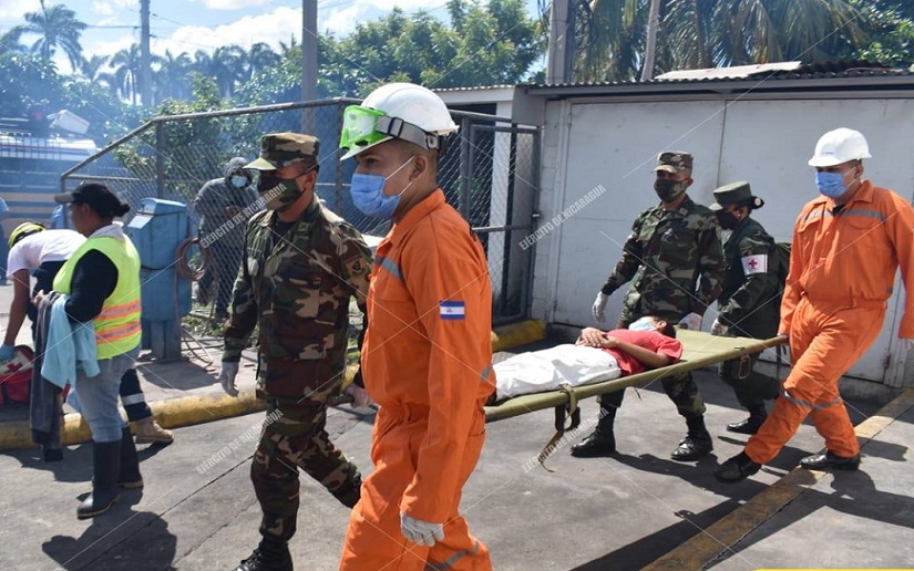
<svg viewBox="0 0 914 571">
<path fill-rule="evenodd" d="M 681 172 L 691 166 L 691 155 L 663 153 L 657 168 Z M 688 196 L 674 210 L 664 210 L 658 205 L 641 212 L 631 225 L 622 260 L 600 291 L 609 295 L 629 280 L 616 329 L 627 329 L 644 315 L 678 323 L 689 313 L 704 314 L 720 293 L 723 281 L 723 255 L 713 212 Z M 705 402 L 691 374 L 663 377 L 660 382 L 689 423 L 691 434 L 692 424 L 699 426 L 705 414 Z M 597 432 L 612 429 L 624 395 L 624 391 L 616 391 L 600 396 L 605 424 L 600 422 L 603 426 Z"/>
</svg>

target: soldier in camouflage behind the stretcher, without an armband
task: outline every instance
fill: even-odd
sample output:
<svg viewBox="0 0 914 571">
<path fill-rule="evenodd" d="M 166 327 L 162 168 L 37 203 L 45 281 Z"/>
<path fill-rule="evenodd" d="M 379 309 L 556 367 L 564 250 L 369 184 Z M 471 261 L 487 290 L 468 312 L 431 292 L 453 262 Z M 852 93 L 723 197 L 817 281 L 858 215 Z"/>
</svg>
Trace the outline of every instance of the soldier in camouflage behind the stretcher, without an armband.
<svg viewBox="0 0 914 571">
<path fill-rule="evenodd" d="M 665 152 L 655 168 L 654 189 L 660 205 L 641 212 L 631 225 L 622 260 L 594 302 L 594 318 L 604 320 L 606 301 L 631 281 L 616 329 L 627 329 L 641 316 L 655 315 L 687 329 L 700 329 L 701 315 L 717 299 L 723 281 L 723 255 L 713 212 L 686 194 L 691 185 L 692 157 Z M 690 374 L 665 377 L 664 391 L 686 418 L 687 436 L 670 457 L 696 460 L 712 449 L 705 428 L 705 403 Z M 572 446 L 578 457 L 604 456 L 616 450 L 613 423 L 624 391 L 600 396 L 600 419 L 593 434 Z"/>
</svg>

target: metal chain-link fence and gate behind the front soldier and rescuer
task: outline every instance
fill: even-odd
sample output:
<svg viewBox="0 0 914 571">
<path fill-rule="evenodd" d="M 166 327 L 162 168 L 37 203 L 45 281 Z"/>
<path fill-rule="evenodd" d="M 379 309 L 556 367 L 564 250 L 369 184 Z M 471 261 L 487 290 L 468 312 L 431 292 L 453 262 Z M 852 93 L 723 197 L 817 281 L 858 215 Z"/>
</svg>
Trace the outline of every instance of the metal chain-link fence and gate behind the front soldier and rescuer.
<svg viewBox="0 0 914 571">
<path fill-rule="evenodd" d="M 317 193 L 326 206 L 363 233 L 383 236 L 389 230 L 390 221 L 356 209 L 349 196 L 356 162 L 339 160 L 342 111 L 353 103 L 329 100 L 157 117 L 68 170 L 61 177 L 61 189 L 95 180 L 120 193 L 133 210 L 146 197 L 186 204 L 189 235 L 208 245 L 208 270 L 196 297 L 212 301 L 212 316 L 227 309 L 243 239 L 240 231 L 232 230 L 213 239 L 214 229 L 232 228 L 232 220 L 263 206 L 253 187 L 232 185 L 226 165 L 234 157 L 254 159 L 265 133 L 316 135 L 321 142 Z M 440 185 L 485 246 L 493 320 L 522 319 L 528 307 L 532 251 L 521 242 L 532 231 L 540 132 L 489 115 L 454 112 L 453 116 L 461 129 L 458 137 L 451 137 L 442 158 Z M 195 308 L 199 311 L 198 304 Z"/>
</svg>

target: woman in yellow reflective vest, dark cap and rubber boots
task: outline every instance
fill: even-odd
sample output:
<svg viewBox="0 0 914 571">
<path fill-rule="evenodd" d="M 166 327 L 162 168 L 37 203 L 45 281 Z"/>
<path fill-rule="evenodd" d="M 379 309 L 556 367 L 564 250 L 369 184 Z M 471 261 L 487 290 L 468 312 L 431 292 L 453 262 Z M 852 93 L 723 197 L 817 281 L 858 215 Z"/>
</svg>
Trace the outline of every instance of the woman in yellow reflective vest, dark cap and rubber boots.
<svg viewBox="0 0 914 571">
<path fill-rule="evenodd" d="M 92 494 L 76 510 L 85 519 L 107 510 L 119 486 L 143 486 L 136 447 L 117 409 L 121 376 L 140 351 L 140 255 L 114 222 L 130 206 L 106 186 L 83 184 L 54 200 L 70 204 L 73 227 L 86 237 L 54 278 L 54 291 L 69 295 L 64 310 L 71 322 L 94 323 L 101 371 L 92 377 L 79 371 L 74 386 L 92 429 Z"/>
</svg>

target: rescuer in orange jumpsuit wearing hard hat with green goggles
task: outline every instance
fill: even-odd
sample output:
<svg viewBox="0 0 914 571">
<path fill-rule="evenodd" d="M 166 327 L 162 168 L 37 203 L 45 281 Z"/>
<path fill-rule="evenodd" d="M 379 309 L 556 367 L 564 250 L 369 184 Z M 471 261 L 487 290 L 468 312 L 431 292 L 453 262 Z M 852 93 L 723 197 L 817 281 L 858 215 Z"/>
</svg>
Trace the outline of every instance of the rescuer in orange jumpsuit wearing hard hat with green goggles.
<svg viewBox="0 0 914 571">
<path fill-rule="evenodd" d="M 343 114 L 342 159 L 359 163 L 353 203 L 393 227 L 374 258 L 361 353 L 366 391 L 380 405 L 374 471 L 352 510 L 341 570 L 492 569 L 459 512 L 495 383 L 485 255 L 435 180 L 456 128 L 438 95 L 410 83 L 379 87 Z"/>
</svg>

